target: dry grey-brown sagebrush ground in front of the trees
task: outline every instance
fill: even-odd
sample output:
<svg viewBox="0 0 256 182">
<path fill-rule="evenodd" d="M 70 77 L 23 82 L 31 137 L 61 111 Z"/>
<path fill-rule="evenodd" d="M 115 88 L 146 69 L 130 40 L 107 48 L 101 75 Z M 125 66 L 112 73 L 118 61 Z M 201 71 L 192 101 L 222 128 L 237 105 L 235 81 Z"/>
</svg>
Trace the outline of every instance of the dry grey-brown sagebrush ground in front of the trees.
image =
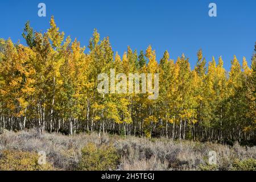
<svg viewBox="0 0 256 182">
<path fill-rule="evenodd" d="M 11 166 L 13 164 L 10 164 L 10 159 L 4 159 L 6 156 L 3 154 L 6 154 L 6 151 L 34 154 L 44 151 L 47 162 L 55 170 L 106 169 L 97 166 L 98 160 L 102 163 L 100 156 L 104 158 L 104 154 L 97 153 L 99 155 L 96 156 L 95 148 L 93 151 L 92 147 L 82 152 L 82 148 L 88 145 L 96 148 L 113 147 L 115 156 L 118 156 L 114 158 L 118 160 L 114 167 L 112 165 L 113 170 L 256 170 L 256 147 L 243 147 L 238 143 L 228 146 L 212 142 L 172 141 L 166 138 L 147 139 L 109 134 L 99 137 L 97 133 L 67 136 L 56 133 L 40 134 L 36 130 L 16 133 L 4 131 L 0 135 L 0 170 L 1 166 L 6 166 L 7 163 L 8 169 L 16 169 Z M 212 154 L 210 151 L 216 152 L 217 164 L 209 164 L 209 154 Z M 84 155 L 86 160 L 82 160 Z M 105 160 L 110 163 L 113 161 Z"/>
</svg>

